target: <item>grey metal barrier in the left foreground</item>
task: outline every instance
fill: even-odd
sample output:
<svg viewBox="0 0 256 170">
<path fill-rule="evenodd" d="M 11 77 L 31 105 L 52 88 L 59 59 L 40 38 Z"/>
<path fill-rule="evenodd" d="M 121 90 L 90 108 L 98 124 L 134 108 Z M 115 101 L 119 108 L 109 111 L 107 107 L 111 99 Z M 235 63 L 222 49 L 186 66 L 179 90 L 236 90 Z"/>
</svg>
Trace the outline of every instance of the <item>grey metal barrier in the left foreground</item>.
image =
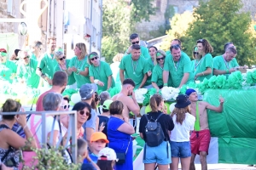
<svg viewBox="0 0 256 170">
<path fill-rule="evenodd" d="M 0 115 L 40 115 L 42 116 L 42 147 L 47 147 L 47 133 L 46 133 L 46 117 L 47 116 L 60 116 L 60 115 L 68 115 L 69 123 L 67 129 L 67 140 L 66 144 L 63 144 L 65 148 L 67 148 L 68 139 L 72 137 L 72 158 L 73 163 L 77 163 L 77 111 L 26 111 L 26 112 L 1 112 Z M 55 123 L 52 125 L 52 131 L 49 138 L 49 144 L 53 143 L 53 127 Z M 35 135 L 35 134 L 33 134 Z M 59 142 L 56 144 L 56 148 L 60 146 L 62 140 L 62 136 L 60 135 Z"/>
</svg>

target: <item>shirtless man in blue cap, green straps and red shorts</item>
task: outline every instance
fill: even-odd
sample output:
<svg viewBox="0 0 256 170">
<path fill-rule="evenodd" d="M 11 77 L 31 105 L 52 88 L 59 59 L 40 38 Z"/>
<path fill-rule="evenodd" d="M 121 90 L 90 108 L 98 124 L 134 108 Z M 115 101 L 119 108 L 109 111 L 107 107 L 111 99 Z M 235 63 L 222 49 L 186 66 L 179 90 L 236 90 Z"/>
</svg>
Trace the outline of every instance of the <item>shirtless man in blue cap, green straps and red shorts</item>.
<svg viewBox="0 0 256 170">
<path fill-rule="evenodd" d="M 195 170 L 195 156 L 198 154 L 201 161 L 201 169 L 207 170 L 207 155 L 209 144 L 211 141 L 211 133 L 209 130 L 207 109 L 222 112 L 224 99 L 219 98 L 219 106 L 210 105 L 206 101 L 198 101 L 197 93 L 194 89 L 189 88 L 186 91 L 191 102 L 191 115 L 195 116 L 195 127 L 190 135 L 191 161 L 190 170 Z"/>
</svg>

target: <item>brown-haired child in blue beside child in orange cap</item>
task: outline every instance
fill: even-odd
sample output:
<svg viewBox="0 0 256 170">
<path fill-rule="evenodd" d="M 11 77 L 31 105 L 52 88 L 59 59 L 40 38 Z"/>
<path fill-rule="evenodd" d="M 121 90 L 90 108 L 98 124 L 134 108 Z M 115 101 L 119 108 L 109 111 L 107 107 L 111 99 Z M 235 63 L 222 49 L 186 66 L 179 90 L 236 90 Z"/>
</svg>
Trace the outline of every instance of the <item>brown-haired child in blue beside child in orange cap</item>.
<svg viewBox="0 0 256 170">
<path fill-rule="evenodd" d="M 88 156 L 88 144 L 84 139 L 78 139 L 78 162 L 86 159 L 87 163 L 82 164 L 81 170 L 101 170 L 94 161 L 91 161 L 90 156 Z"/>
</svg>

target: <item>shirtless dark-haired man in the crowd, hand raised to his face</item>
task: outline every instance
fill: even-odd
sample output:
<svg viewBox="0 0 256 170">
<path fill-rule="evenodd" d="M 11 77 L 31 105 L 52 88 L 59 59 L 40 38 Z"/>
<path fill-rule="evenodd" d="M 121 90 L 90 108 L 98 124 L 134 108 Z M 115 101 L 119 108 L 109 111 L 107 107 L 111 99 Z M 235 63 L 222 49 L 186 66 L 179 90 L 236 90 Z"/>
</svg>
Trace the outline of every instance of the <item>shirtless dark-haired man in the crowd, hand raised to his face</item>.
<svg viewBox="0 0 256 170">
<path fill-rule="evenodd" d="M 140 114 L 140 106 L 137 104 L 137 100 L 133 92 L 134 88 L 135 83 L 130 78 L 127 78 L 124 80 L 122 89 L 119 94 L 114 95 L 112 98 L 113 101 L 119 100 L 124 104 L 123 116 L 125 117 L 129 117 L 130 111 L 134 115 Z"/>
</svg>

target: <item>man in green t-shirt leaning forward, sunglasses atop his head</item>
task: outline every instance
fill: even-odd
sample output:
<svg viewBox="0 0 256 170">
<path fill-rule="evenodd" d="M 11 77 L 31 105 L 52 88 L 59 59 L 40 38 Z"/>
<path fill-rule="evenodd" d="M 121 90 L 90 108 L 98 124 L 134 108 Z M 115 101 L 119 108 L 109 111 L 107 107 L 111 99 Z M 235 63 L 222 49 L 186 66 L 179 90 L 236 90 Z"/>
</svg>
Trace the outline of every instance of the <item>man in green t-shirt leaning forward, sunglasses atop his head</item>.
<svg viewBox="0 0 256 170">
<path fill-rule="evenodd" d="M 171 74 L 173 88 L 181 88 L 183 84 L 193 81 L 191 60 L 187 54 L 182 53 L 178 44 L 172 45 L 170 50 L 171 54 L 166 56 L 164 65 L 164 86 L 168 85 L 169 74 Z"/>
</svg>

